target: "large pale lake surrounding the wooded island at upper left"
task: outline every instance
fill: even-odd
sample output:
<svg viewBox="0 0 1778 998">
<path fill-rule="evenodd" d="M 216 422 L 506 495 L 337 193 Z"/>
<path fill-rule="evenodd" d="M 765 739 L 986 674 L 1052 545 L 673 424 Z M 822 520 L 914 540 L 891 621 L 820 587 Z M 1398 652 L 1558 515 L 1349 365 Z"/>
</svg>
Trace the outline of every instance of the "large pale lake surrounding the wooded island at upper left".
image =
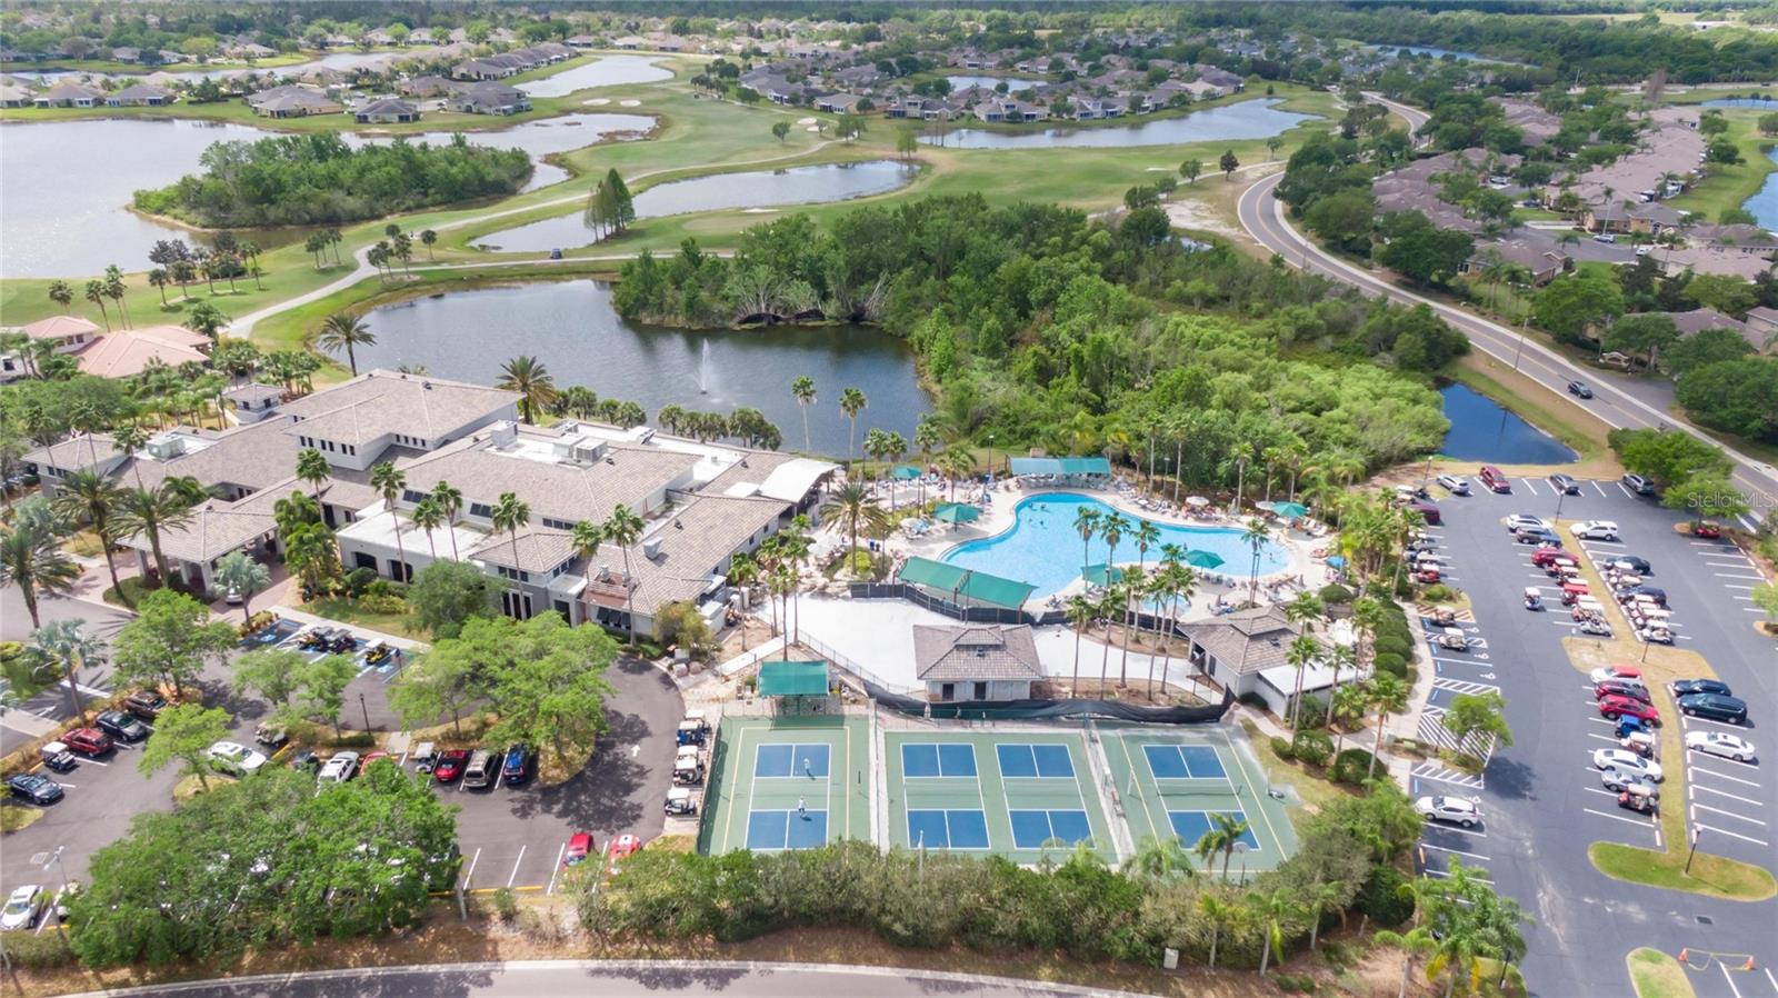
<svg viewBox="0 0 1778 998">
<path fill-rule="evenodd" d="M 642 132 L 654 119 L 640 114 L 569 114 L 526 121 L 505 132 L 466 132 L 471 142 L 519 148 L 541 158 L 590 146 L 613 132 Z M 0 125 L 0 276 L 85 278 L 108 263 L 124 270 L 148 267 L 155 240 L 192 240 L 188 229 L 164 226 L 128 210 L 137 189 L 164 187 L 197 169 L 212 142 L 276 135 L 251 125 L 96 117 L 44 125 Z M 352 144 L 388 137 L 345 133 Z M 441 142 L 448 132 L 414 135 Z M 119 169 L 128 162 L 128 169 Z M 557 183 L 567 171 L 537 164 L 526 189 Z M 258 240 L 268 245 L 270 240 Z"/>
</svg>

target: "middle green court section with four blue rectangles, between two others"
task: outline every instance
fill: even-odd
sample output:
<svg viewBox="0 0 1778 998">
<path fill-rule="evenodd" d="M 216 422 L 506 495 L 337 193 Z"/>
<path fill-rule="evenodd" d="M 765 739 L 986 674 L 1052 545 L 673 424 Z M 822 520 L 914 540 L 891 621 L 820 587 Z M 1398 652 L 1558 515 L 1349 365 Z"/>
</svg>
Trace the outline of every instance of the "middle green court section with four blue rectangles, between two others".
<svg viewBox="0 0 1778 998">
<path fill-rule="evenodd" d="M 1079 735 L 891 731 L 884 749 L 889 845 L 1037 863 L 1085 841 L 1113 856 Z"/>
</svg>

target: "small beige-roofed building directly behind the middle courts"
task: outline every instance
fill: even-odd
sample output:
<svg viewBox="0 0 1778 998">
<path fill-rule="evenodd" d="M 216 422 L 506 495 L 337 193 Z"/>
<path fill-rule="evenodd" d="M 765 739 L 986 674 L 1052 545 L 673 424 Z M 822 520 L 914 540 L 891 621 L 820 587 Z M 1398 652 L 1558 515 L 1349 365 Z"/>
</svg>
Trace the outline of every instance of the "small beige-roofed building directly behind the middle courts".
<svg viewBox="0 0 1778 998">
<path fill-rule="evenodd" d="M 1029 624 L 914 626 L 914 674 L 941 703 L 1029 699 L 1044 664 Z"/>
</svg>

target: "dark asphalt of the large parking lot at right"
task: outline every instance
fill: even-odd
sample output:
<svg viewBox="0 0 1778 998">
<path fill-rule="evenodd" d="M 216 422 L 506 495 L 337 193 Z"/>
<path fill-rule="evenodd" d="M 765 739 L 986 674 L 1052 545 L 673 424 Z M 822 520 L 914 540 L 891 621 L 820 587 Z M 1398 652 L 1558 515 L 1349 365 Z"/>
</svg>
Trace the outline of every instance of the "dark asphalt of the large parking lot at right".
<svg viewBox="0 0 1778 998">
<path fill-rule="evenodd" d="M 1449 562 L 1453 585 L 1470 598 L 1474 621 L 1465 624 L 1470 651 L 1437 653 L 1430 703 L 1438 706 L 1460 692 L 1497 687 L 1508 703 L 1515 744 L 1492 756 L 1483 781 L 1435 763 L 1415 769 L 1415 795 L 1476 797 L 1485 815 L 1481 829 L 1428 827 L 1424 866 L 1437 875 L 1453 856 L 1483 866 L 1499 891 L 1527 909 L 1536 920 L 1526 930 L 1524 962 L 1533 994 L 1625 994 L 1627 950 L 1654 946 L 1677 954 L 1687 946 L 1694 954 L 1734 954 L 1737 968 L 1751 955 L 1758 968 L 1728 971 L 1709 962 L 1691 975 L 1700 996 L 1778 996 L 1778 980 L 1764 970 L 1778 962 L 1778 900 L 1737 904 L 1625 884 L 1598 873 L 1586 856 L 1588 845 L 1600 840 L 1646 849 L 1659 840 L 1652 822 L 1618 809 L 1600 792 L 1590 756 L 1611 747 L 1611 729 L 1598 717 L 1586 678 L 1566 660 L 1561 640 L 1574 628 L 1554 600 L 1550 580 L 1531 566 L 1531 550 L 1515 544 L 1502 525 L 1515 512 L 1550 519 L 1554 489 L 1542 480 L 1513 479 L 1513 495 L 1435 498 L 1444 525 L 1431 534 Z M 1668 591 L 1682 635 L 1678 646 L 1703 655 L 1750 703 L 1753 724 L 1739 733 L 1762 749 L 1758 765 L 1664 758 L 1666 767 L 1687 767 L 1691 790 L 1687 801 L 1670 799 L 1662 806 L 1687 808 L 1693 825 L 1705 827 L 1703 850 L 1771 866 L 1771 831 L 1778 827 L 1778 781 L 1771 776 L 1778 760 L 1771 738 L 1778 731 L 1773 669 L 1778 649 L 1755 633 L 1758 617 L 1741 600 L 1746 591 L 1730 589 L 1753 585 L 1748 576 L 1755 569 L 1728 546 L 1677 534 L 1675 512 L 1629 495 L 1616 482 L 1582 482 L 1581 496 L 1563 500 L 1561 519 L 1616 521 L 1622 544 L 1586 544 L 1588 553 L 1634 553 L 1654 562 L 1650 582 Z M 1526 585 L 1543 585 L 1554 603 L 1550 610 L 1527 612 Z M 1705 786 L 1734 797 L 1712 795 Z"/>
</svg>

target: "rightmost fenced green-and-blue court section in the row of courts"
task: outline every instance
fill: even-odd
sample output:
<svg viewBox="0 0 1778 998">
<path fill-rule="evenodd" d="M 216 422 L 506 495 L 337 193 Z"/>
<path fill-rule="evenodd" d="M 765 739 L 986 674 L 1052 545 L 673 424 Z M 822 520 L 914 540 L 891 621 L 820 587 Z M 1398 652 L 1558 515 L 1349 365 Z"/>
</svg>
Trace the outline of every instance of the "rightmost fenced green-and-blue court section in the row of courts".
<svg viewBox="0 0 1778 998">
<path fill-rule="evenodd" d="M 1269 870 L 1296 852 L 1296 833 L 1282 801 L 1266 793 L 1266 776 L 1225 728 L 1152 731 L 1101 726 L 1099 740 L 1131 838 L 1177 836 L 1186 849 L 1223 815 L 1246 825 L 1230 875 Z M 1220 868 L 1220 859 L 1216 861 Z"/>
</svg>

